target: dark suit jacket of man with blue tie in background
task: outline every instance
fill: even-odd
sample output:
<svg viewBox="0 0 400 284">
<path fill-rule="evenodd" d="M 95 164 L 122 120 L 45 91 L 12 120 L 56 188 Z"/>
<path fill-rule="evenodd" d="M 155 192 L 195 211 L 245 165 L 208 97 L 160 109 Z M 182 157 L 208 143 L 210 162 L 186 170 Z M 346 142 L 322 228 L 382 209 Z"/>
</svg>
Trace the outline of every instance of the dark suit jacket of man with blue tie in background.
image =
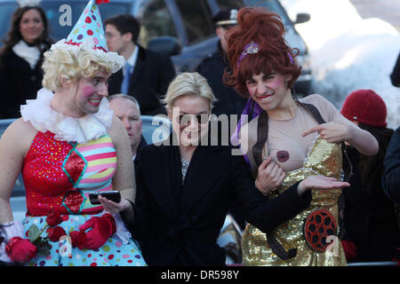
<svg viewBox="0 0 400 284">
<path fill-rule="evenodd" d="M 161 52 L 145 50 L 139 46 L 138 58 L 133 68 L 128 93 L 138 100 L 140 114 L 166 114 L 165 107 L 159 99 L 164 99 L 169 84 L 175 76 L 171 58 Z M 108 83 L 108 94 L 121 92 L 124 75 L 122 69 L 111 75 Z"/>
</svg>

